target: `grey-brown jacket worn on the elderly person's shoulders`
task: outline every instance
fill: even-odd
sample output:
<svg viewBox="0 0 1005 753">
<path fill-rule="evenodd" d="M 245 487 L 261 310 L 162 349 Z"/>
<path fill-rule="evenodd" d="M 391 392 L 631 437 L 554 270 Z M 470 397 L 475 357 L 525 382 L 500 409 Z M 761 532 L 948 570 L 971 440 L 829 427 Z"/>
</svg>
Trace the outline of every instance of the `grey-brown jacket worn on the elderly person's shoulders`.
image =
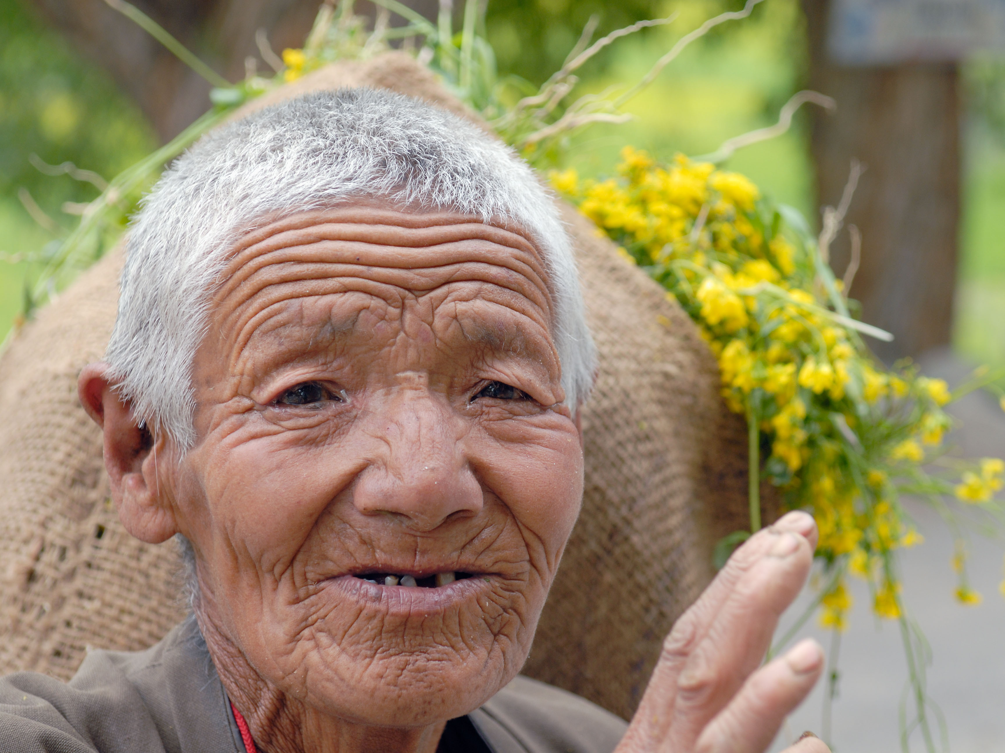
<svg viewBox="0 0 1005 753">
<path fill-rule="evenodd" d="M 518 677 L 469 719 L 494 753 L 610 753 L 625 723 Z M 90 652 L 69 683 L 0 678 L 3 753 L 244 753 L 195 620 L 138 653 Z"/>
</svg>

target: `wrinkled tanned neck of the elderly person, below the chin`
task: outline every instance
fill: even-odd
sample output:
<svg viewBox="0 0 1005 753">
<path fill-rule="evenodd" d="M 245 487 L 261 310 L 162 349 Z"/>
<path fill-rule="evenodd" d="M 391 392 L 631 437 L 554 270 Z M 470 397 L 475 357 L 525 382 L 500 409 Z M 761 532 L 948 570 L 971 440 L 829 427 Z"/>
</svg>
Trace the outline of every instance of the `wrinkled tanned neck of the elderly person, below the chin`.
<svg viewBox="0 0 1005 753">
<path fill-rule="evenodd" d="M 380 727 L 324 714 L 263 680 L 200 598 L 199 629 L 220 682 L 267 753 L 435 753 L 446 720 L 425 727 Z"/>
</svg>

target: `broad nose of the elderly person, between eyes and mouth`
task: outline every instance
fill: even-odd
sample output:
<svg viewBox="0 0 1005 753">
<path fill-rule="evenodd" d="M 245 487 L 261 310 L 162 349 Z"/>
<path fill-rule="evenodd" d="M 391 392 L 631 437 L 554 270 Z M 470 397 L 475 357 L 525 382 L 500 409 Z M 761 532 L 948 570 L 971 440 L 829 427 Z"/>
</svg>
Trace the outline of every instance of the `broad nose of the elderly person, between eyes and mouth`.
<svg viewBox="0 0 1005 753">
<path fill-rule="evenodd" d="M 368 424 L 382 450 L 353 488 L 360 512 L 431 531 L 481 510 L 481 485 L 464 452 L 465 422 L 445 398 L 424 385 L 395 390 Z"/>
</svg>

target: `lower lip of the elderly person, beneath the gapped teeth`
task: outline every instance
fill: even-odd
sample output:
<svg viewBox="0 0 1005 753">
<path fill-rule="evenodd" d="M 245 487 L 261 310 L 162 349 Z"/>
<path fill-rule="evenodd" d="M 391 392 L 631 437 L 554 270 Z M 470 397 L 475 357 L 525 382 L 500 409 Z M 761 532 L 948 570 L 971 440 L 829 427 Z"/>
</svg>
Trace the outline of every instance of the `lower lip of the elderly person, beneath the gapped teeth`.
<svg viewBox="0 0 1005 753">
<path fill-rule="evenodd" d="M 472 575 L 435 588 L 409 585 L 381 585 L 358 578 L 342 575 L 319 583 L 322 587 L 335 588 L 349 599 L 377 607 L 387 614 L 423 616 L 446 612 L 464 603 L 477 602 L 478 597 L 488 593 L 491 587 L 490 575 Z"/>
</svg>

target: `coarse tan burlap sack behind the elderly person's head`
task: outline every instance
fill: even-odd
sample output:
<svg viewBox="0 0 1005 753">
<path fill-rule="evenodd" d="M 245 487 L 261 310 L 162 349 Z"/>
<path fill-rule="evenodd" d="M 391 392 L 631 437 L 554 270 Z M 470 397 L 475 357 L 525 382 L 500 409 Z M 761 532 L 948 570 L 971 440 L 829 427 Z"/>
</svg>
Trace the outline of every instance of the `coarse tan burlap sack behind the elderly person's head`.
<svg viewBox="0 0 1005 753">
<path fill-rule="evenodd" d="M 347 84 L 474 117 L 401 53 L 330 66 L 252 106 Z M 526 672 L 628 717 L 663 636 L 709 581 L 714 542 L 745 525 L 746 434 L 688 317 L 564 212 L 600 374 L 584 416 L 583 513 Z M 144 648 L 185 612 L 174 545 L 120 525 L 100 434 L 76 399 L 77 372 L 112 329 L 121 264 L 109 254 L 0 357 L 0 674 L 68 678 L 88 647 Z"/>
</svg>

